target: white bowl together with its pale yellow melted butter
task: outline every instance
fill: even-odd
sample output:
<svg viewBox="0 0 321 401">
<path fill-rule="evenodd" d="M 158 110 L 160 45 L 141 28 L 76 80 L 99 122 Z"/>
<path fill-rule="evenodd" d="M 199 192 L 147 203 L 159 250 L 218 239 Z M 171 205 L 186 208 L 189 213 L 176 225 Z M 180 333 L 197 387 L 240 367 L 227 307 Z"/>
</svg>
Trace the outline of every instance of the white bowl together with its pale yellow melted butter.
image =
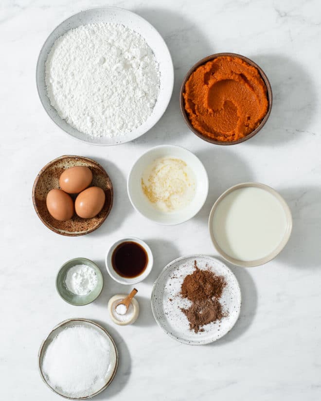
<svg viewBox="0 0 321 401">
<path fill-rule="evenodd" d="M 201 161 L 180 146 L 149 149 L 134 163 L 127 179 L 133 207 L 155 223 L 171 226 L 196 215 L 209 189 Z"/>
</svg>

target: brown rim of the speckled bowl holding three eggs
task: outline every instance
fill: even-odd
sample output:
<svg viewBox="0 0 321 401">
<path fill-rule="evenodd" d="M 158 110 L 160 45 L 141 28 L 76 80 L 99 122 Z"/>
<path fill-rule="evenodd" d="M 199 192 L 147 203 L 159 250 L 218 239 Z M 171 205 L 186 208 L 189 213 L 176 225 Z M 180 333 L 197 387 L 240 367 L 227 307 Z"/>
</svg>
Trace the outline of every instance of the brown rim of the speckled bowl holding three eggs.
<svg viewBox="0 0 321 401">
<path fill-rule="evenodd" d="M 87 162 L 90 162 L 90 163 L 94 164 L 102 172 L 102 174 L 105 175 L 107 182 L 109 182 L 109 184 L 110 184 L 110 204 L 109 204 L 109 208 L 108 208 L 108 210 L 106 212 L 106 215 L 104 216 L 104 218 L 95 227 L 89 228 L 89 230 L 86 231 L 86 232 L 72 233 L 72 232 L 57 230 L 55 227 L 53 227 L 50 224 L 48 224 L 45 219 L 43 219 L 43 217 L 39 213 L 38 207 L 36 205 L 36 186 L 38 184 L 38 181 L 39 181 L 39 178 L 40 178 L 41 174 L 43 174 L 45 172 L 45 170 L 47 170 L 50 166 L 52 166 L 58 160 L 62 160 L 64 158 L 79 159 L 79 160 L 84 160 L 84 161 L 87 161 Z M 107 217 L 108 217 L 108 215 L 110 213 L 110 210 L 111 210 L 112 205 L 113 205 L 113 198 L 114 198 L 114 189 L 113 189 L 112 182 L 111 182 L 111 180 L 109 178 L 109 175 L 107 174 L 106 170 L 99 163 L 97 163 L 97 161 L 95 161 L 95 160 L 93 160 L 93 159 L 91 159 L 89 157 L 85 157 L 85 156 L 63 155 L 63 156 L 56 157 L 54 160 L 49 161 L 44 167 L 42 167 L 42 169 L 37 174 L 36 179 L 34 181 L 34 185 L 32 187 L 32 202 L 33 202 L 34 208 L 36 210 L 36 214 L 38 215 L 39 219 L 51 231 L 54 231 L 56 234 L 59 234 L 59 235 L 64 235 L 65 237 L 80 237 L 81 235 L 89 234 L 90 232 L 95 231 L 97 228 L 99 228 L 105 222 L 105 220 L 107 219 Z"/>
</svg>

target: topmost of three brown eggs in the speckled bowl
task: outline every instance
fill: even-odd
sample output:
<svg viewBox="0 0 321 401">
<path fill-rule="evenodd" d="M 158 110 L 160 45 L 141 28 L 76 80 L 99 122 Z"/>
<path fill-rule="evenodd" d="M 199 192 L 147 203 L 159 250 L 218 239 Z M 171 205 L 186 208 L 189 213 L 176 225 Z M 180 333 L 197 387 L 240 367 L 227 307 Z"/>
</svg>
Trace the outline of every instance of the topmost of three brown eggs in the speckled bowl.
<svg viewBox="0 0 321 401">
<path fill-rule="evenodd" d="M 68 193 L 79 193 L 89 187 L 92 173 L 88 167 L 75 166 L 65 170 L 59 177 L 60 188 Z"/>
</svg>

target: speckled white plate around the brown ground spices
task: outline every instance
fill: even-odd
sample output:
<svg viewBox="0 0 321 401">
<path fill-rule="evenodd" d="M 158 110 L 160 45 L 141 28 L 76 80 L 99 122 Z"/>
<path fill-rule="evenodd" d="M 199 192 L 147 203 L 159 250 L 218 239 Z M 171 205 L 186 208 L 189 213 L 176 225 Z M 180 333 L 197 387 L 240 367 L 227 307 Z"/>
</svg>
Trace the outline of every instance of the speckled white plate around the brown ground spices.
<svg viewBox="0 0 321 401">
<path fill-rule="evenodd" d="M 184 278 L 195 269 L 194 261 L 200 269 L 211 269 L 227 281 L 220 302 L 228 316 L 203 326 L 204 331 L 198 333 L 189 329 L 187 317 L 180 310 L 190 302 L 179 296 Z M 153 286 L 151 303 L 155 320 L 166 334 L 183 344 L 203 345 L 218 340 L 232 329 L 240 314 L 241 290 L 232 271 L 222 262 L 206 255 L 185 256 L 170 262 L 160 273 Z"/>
</svg>

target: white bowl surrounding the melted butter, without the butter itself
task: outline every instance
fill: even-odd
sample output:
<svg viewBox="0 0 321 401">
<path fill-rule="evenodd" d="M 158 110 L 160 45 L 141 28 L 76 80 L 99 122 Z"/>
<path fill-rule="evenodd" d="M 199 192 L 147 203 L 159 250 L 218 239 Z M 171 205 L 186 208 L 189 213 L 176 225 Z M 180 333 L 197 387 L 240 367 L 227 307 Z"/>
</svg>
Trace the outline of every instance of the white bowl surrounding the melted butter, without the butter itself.
<svg viewBox="0 0 321 401">
<path fill-rule="evenodd" d="M 184 209 L 164 212 L 155 209 L 143 193 L 141 179 L 143 171 L 159 157 L 177 157 L 189 166 L 196 179 L 196 193 L 192 202 Z M 149 149 L 134 163 L 127 179 L 127 192 L 133 207 L 147 219 L 165 226 L 183 223 L 196 215 L 204 205 L 209 189 L 205 167 L 192 152 L 180 146 L 160 145 Z"/>
</svg>

